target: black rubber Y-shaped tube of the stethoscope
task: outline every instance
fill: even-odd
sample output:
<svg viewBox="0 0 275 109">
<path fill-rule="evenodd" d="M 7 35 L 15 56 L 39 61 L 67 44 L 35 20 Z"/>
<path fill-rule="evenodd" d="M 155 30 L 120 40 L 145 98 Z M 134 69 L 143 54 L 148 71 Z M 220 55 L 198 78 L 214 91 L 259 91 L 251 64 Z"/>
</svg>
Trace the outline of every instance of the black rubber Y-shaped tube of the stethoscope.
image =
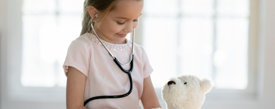
<svg viewBox="0 0 275 109">
<path fill-rule="evenodd" d="M 118 67 L 119 67 L 123 72 L 125 72 L 125 73 L 128 74 L 128 76 L 129 76 L 129 81 L 130 81 L 130 90 L 129 90 L 127 93 L 123 94 L 123 95 L 91 97 L 91 98 L 89 98 L 88 100 L 86 100 L 86 101 L 84 102 L 84 106 L 85 106 L 88 102 L 90 102 L 90 101 L 92 101 L 92 100 L 95 100 L 95 99 L 103 99 L 103 98 L 122 98 L 122 97 L 128 96 L 128 95 L 132 92 L 132 90 L 133 90 L 133 81 L 132 81 L 132 77 L 131 77 L 131 72 L 133 71 L 134 54 L 132 54 L 132 60 L 131 60 L 131 67 L 130 67 L 130 70 L 125 70 L 125 69 L 120 65 L 120 63 L 118 62 L 118 59 L 117 59 L 117 58 L 115 58 L 115 59 L 113 59 L 113 60 L 114 60 L 114 62 L 118 65 Z"/>
</svg>

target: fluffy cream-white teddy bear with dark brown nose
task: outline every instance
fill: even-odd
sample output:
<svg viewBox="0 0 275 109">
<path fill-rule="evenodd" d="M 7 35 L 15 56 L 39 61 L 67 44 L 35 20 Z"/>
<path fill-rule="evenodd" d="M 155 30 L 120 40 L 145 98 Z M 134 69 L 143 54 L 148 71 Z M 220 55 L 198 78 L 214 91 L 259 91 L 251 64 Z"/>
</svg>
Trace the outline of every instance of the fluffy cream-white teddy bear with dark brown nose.
<svg viewBox="0 0 275 109">
<path fill-rule="evenodd" d="M 213 86 L 209 78 L 200 79 L 194 75 L 172 77 L 163 86 L 162 99 L 167 109 L 200 109 L 205 100 L 205 94 Z"/>
</svg>

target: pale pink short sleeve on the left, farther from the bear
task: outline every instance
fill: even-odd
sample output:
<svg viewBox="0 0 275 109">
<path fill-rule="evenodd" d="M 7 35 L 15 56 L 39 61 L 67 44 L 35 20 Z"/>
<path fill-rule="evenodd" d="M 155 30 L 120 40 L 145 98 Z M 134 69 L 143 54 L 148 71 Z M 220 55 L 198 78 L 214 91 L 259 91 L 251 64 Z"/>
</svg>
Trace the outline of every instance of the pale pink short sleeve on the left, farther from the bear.
<svg viewBox="0 0 275 109">
<path fill-rule="evenodd" d="M 68 73 L 68 66 L 71 66 L 88 77 L 90 64 L 90 47 L 84 40 L 73 40 L 68 48 L 67 56 L 63 64 L 65 75 Z"/>
</svg>

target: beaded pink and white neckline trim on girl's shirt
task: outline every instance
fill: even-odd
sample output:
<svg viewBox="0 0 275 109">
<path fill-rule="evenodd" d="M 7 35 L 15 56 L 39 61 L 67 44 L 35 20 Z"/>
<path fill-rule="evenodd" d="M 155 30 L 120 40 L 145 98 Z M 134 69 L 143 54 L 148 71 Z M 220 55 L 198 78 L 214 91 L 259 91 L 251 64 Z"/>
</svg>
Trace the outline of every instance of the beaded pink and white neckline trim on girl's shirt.
<svg viewBox="0 0 275 109">
<path fill-rule="evenodd" d="M 104 47 L 101 43 L 100 43 L 100 41 L 98 40 L 98 38 L 96 38 L 96 37 L 89 37 L 89 39 L 92 41 L 92 42 L 94 42 L 94 43 L 96 43 L 98 46 L 101 46 L 101 47 Z M 127 45 L 126 44 L 118 44 L 118 45 L 111 45 L 111 44 L 105 44 L 105 42 L 104 41 L 102 41 L 103 42 L 103 44 L 109 49 L 109 50 L 113 50 L 113 51 L 124 51 L 125 49 L 131 49 L 132 48 L 132 43 L 133 42 L 131 42 L 131 41 L 127 41 L 128 43 L 127 43 Z"/>
</svg>

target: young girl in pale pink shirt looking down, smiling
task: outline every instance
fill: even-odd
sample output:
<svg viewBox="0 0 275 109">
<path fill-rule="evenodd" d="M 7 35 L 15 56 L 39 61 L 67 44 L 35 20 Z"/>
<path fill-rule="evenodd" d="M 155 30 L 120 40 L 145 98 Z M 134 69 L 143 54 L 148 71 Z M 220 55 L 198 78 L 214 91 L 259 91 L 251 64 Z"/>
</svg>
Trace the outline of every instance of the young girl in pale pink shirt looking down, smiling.
<svg viewBox="0 0 275 109">
<path fill-rule="evenodd" d="M 95 99 L 96 96 L 122 95 L 130 81 L 108 54 L 95 34 L 121 63 L 132 57 L 132 42 L 126 39 L 138 26 L 143 0 L 85 0 L 81 36 L 68 48 L 63 68 L 67 76 L 67 109 L 144 109 L 161 107 L 152 85 L 153 72 L 142 46 L 133 44 L 132 92 L 122 98 Z M 94 31 L 91 28 L 93 25 Z M 122 65 L 126 70 L 131 64 Z"/>
</svg>

